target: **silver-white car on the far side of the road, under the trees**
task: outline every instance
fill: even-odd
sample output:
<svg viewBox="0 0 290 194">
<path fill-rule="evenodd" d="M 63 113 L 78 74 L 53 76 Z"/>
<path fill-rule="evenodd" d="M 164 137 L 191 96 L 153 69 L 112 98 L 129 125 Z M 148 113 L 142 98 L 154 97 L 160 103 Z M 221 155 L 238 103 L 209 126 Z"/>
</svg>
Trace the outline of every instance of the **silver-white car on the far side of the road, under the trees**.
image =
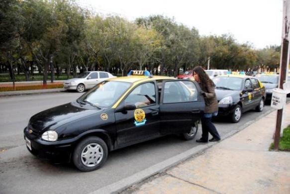
<svg viewBox="0 0 290 194">
<path fill-rule="evenodd" d="M 115 78 L 108 72 L 84 72 L 78 78 L 73 78 L 64 82 L 64 89 L 76 90 L 79 93 L 93 88 L 98 83 L 110 78 Z"/>
</svg>

